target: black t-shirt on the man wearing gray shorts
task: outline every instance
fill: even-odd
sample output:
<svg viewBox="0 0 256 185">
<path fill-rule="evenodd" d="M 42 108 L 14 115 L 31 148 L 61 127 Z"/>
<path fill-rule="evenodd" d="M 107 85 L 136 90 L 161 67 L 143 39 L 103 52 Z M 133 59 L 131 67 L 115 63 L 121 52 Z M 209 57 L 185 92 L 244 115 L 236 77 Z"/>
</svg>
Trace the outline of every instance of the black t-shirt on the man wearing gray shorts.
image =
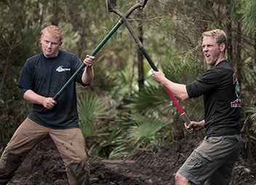
<svg viewBox="0 0 256 185">
<path fill-rule="evenodd" d="M 239 82 L 227 61 L 207 70 L 186 86 L 189 98 L 204 94 L 204 120 L 207 136 L 239 134 L 241 99 Z"/>
</svg>

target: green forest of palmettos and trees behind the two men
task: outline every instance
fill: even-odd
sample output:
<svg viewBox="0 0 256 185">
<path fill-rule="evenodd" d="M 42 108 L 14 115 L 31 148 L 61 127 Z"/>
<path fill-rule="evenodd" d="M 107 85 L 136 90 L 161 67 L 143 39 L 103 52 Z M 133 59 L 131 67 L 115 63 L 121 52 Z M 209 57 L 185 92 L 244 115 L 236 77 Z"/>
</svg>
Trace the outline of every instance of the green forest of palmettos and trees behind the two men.
<svg viewBox="0 0 256 185">
<path fill-rule="evenodd" d="M 126 12 L 137 1 L 117 1 Z M 148 0 L 129 21 L 145 49 L 167 78 L 191 83 L 208 69 L 201 33 L 220 28 L 228 34 L 226 57 L 236 70 L 242 99 L 243 157 L 256 154 L 256 1 Z M 103 0 L 0 1 L 0 154 L 31 104 L 20 97 L 17 79 L 28 57 L 41 52 L 39 37 L 47 25 L 63 30 L 61 49 L 84 59 L 116 25 Z M 89 154 L 116 158 L 138 149 L 157 152 L 189 135 L 164 88 L 153 81 L 151 67 L 124 25 L 96 55 L 95 81 L 77 86 L 80 126 Z M 56 92 L 57 93 L 57 92 Z M 188 118 L 204 118 L 202 98 L 180 102 Z"/>
</svg>

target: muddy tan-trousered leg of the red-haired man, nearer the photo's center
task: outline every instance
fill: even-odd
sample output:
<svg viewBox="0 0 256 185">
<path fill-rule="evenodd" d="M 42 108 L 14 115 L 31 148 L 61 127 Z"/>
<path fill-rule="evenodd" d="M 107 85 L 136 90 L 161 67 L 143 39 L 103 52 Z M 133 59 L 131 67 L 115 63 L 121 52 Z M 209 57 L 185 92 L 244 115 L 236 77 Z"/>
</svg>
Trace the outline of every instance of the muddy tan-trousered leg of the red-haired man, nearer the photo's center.
<svg viewBox="0 0 256 185">
<path fill-rule="evenodd" d="M 89 185 L 89 163 L 81 130 L 79 128 L 52 129 L 50 136 L 63 158 L 69 184 Z"/>
</svg>

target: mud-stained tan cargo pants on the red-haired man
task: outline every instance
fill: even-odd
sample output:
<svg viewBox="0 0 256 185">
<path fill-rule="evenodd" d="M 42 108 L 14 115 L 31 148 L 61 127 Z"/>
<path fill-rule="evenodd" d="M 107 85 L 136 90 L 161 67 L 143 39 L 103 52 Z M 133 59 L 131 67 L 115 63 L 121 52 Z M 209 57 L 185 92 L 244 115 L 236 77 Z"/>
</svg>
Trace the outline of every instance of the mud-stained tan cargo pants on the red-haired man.
<svg viewBox="0 0 256 185">
<path fill-rule="evenodd" d="M 89 163 L 80 128 L 52 129 L 26 118 L 15 131 L 1 156 L 0 185 L 7 184 L 28 152 L 47 135 L 52 138 L 60 152 L 69 184 L 89 184 Z"/>
</svg>

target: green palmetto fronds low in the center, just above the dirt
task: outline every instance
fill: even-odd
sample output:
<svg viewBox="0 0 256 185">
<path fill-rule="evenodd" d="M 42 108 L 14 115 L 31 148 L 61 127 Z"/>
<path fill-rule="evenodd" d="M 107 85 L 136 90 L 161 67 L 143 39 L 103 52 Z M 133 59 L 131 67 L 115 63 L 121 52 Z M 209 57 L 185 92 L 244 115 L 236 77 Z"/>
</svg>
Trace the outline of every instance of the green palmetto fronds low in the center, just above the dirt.
<svg viewBox="0 0 256 185">
<path fill-rule="evenodd" d="M 167 122 L 142 115 L 124 115 L 115 124 L 118 131 L 103 144 L 112 148 L 110 158 L 132 155 L 137 149 L 158 149 L 161 129 L 167 126 Z"/>
</svg>

